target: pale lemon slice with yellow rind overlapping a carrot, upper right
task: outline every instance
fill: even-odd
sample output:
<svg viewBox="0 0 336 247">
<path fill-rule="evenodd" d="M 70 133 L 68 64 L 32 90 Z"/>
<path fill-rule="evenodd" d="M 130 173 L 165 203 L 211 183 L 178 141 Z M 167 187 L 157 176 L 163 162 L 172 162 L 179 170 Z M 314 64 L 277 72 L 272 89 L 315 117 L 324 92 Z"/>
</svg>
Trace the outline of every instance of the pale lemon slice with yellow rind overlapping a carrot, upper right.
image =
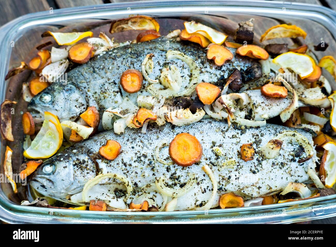
<svg viewBox="0 0 336 247">
<path fill-rule="evenodd" d="M 273 59 L 273 63 L 280 65 L 283 68 L 289 68 L 299 74 L 301 79 L 310 76 L 316 66 L 314 60 L 305 54 L 296 52 L 285 52 Z"/>
</svg>

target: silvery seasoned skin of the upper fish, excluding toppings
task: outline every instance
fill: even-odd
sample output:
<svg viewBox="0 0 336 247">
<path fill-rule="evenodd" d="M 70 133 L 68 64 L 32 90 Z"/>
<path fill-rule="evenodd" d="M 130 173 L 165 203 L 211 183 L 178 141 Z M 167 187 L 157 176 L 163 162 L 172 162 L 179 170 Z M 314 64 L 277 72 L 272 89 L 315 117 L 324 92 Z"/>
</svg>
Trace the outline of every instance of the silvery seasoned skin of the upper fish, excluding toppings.
<svg viewBox="0 0 336 247">
<path fill-rule="evenodd" d="M 88 63 L 69 71 L 67 73 L 67 85 L 63 85 L 62 82 L 54 82 L 35 95 L 28 105 L 28 111 L 41 113 L 35 119 L 36 122 L 38 120 L 42 122 L 43 112 L 46 110 L 54 113 L 60 121 L 63 121 L 76 119 L 89 106 L 96 106 L 100 112 L 109 107 L 115 108 L 121 103 L 122 97 L 126 96 L 136 103 L 139 94 L 150 95 L 146 90 L 149 83 L 144 80 L 139 92 L 129 94 L 120 87 L 120 77 L 128 69 L 141 71 L 142 61 L 150 53 L 155 55 L 153 59 L 155 66 L 153 72 L 149 75 L 150 78 L 159 78 L 163 66 L 175 64 L 185 78 L 182 86 L 189 83 L 189 68 L 178 59 L 167 61 L 166 53 L 168 50 L 181 51 L 193 58 L 200 68 L 200 82 L 214 83 L 220 77 L 227 77 L 234 68 L 244 70 L 258 63 L 255 59 L 237 55 L 233 48 L 228 49 L 234 54 L 234 58 L 227 61 L 223 66 L 215 66 L 212 60 L 207 59 L 206 49 L 197 44 L 178 41 L 176 38 L 168 40 L 166 37 L 160 37 L 147 42 L 117 47 L 101 57 L 94 57 Z M 69 84 L 73 85 L 76 90 L 69 91 L 67 89 Z M 46 104 L 41 99 L 48 94 L 53 97 Z M 68 109 L 64 105 L 75 106 L 78 109 Z"/>
</svg>

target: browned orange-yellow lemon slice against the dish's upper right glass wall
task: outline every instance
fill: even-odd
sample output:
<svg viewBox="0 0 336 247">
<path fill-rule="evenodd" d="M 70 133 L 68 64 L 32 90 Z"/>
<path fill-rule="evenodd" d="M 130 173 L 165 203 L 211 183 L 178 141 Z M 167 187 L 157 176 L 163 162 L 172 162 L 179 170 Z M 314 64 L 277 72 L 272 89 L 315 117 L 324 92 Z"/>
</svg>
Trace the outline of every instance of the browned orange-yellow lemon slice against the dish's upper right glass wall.
<svg viewBox="0 0 336 247">
<path fill-rule="evenodd" d="M 261 35 L 260 42 L 277 38 L 303 37 L 305 39 L 306 36 L 307 33 L 295 25 L 281 24 L 269 28 L 263 35 Z"/>
</svg>

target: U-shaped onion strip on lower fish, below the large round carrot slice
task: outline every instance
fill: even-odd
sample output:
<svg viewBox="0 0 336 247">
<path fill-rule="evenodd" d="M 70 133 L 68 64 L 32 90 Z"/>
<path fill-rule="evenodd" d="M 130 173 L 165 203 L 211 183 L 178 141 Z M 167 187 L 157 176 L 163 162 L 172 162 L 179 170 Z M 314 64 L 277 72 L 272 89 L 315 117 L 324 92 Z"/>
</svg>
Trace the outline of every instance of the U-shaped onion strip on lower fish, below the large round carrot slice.
<svg viewBox="0 0 336 247">
<path fill-rule="evenodd" d="M 170 197 L 181 197 L 187 194 L 189 191 L 191 191 L 195 186 L 195 182 L 196 182 L 195 173 L 190 173 L 189 177 L 190 178 L 188 182 L 185 184 L 185 186 L 183 186 L 180 189 L 171 189 L 167 187 L 164 183 L 165 177 L 163 176 L 160 177 L 159 180 L 155 181 L 155 184 L 161 194 L 170 196 Z"/>
</svg>

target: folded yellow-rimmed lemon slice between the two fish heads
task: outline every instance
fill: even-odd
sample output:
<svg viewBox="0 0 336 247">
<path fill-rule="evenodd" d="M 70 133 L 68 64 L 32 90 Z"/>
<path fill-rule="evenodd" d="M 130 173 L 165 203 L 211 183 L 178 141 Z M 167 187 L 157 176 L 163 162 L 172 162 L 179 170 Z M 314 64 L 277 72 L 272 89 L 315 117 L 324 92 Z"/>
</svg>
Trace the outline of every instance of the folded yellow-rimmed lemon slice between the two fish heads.
<svg viewBox="0 0 336 247">
<path fill-rule="evenodd" d="M 39 137 L 39 140 L 35 141 L 37 137 L 36 136 L 35 139 L 32 141 L 32 145 L 23 153 L 23 155 L 28 159 L 49 158 L 52 155 L 54 155 L 60 147 L 60 143 L 62 141 L 61 136 L 57 130 L 56 124 L 53 123 L 51 120 L 49 121 L 44 120 L 43 125 L 44 125 L 42 126 L 42 129 L 44 128 L 43 132 L 45 131 L 45 129 L 47 129 L 45 134 L 42 136 L 42 138 Z"/>
</svg>

